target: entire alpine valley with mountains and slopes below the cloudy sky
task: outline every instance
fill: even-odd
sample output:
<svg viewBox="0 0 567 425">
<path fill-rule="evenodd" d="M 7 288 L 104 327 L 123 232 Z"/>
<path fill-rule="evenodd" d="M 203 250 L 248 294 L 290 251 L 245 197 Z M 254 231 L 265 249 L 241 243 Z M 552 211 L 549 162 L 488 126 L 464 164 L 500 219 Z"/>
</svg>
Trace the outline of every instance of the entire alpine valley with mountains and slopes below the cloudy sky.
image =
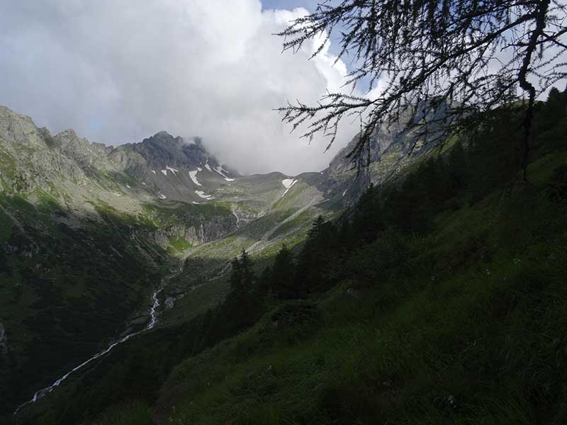
<svg viewBox="0 0 567 425">
<path fill-rule="evenodd" d="M 0 106 L 0 421 L 565 423 L 567 93 L 529 183 L 517 108 L 287 176 Z"/>
</svg>

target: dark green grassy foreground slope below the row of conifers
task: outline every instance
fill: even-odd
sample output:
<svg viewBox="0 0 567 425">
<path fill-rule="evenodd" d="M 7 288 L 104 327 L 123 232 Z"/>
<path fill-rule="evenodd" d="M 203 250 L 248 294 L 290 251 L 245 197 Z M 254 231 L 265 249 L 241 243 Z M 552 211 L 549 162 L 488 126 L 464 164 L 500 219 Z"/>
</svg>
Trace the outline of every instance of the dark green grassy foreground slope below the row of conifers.
<svg viewBox="0 0 567 425">
<path fill-rule="evenodd" d="M 404 236 L 407 259 L 373 266 L 309 302 L 180 363 L 155 408 L 173 424 L 563 424 L 567 420 L 567 218 L 549 164 L 510 193 Z M 380 261 L 377 262 L 380 264 Z M 347 289 L 356 288 L 354 295 Z M 296 314 L 296 307 L 289 307 Z M 172 408 L 174 407 L 174 408 Z"/>
</svg>

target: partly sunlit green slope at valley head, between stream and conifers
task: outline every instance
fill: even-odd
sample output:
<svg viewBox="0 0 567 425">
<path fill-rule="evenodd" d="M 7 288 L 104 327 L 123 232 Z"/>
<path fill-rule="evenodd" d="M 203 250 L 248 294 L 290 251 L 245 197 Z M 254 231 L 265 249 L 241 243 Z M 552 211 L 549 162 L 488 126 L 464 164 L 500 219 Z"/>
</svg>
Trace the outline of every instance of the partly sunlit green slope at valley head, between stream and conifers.
<svg viewBox="0 0 567 425">
<path fill-rule="evenodd" d="M 279 180 L 276 183 L 281 186 Z M 321 214 L 325 217 L 333 215 L 329 210 L 311 205 L 298 217 L 285 221 L 300 210 L 300 207 L 308 205 L 309 201 L 305 199 L 312 199 L 313 193 L 318 192 L 312 186 L 303 182 L 298 183 L 285 197 L 279 198 L 274 205 L 271 205 L 264 216 L 223 238 L 192 246 L 189 251 L 185 251 L 184 272 L 172 279 L 166 288 L 166 293 L 169 295 L 180 293 L 185 295 L 176 300 L 174 309 L 164 312 L 161 317 L 162 324 L 186 322 L 223 300 L 228 293 L 227 272 L 230 270 L 228 266 L 235 256 L 240 255 L 242 249 L 248 250 L 251 246 L 255 246 L 252 258 L 257 273 L 273 261 L 282 244 L 297 251 L 315 217 Z M 201 205 L 197 206 L 201 207 Z M 282 222 L 284 224 L 280 225 Z M 275 231 L 269 234 L 274 229 Z M 266 234 L 269 236 L 258 243 Z"/>
</svg>

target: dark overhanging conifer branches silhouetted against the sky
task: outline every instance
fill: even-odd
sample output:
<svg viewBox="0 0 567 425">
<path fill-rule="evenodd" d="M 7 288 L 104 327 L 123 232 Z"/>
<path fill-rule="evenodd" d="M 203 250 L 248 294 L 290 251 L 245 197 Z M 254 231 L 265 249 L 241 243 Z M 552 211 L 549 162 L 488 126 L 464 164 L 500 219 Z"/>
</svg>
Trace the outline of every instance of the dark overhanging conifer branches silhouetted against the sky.
<svg viewBox="0 0 567 425">
<path fill-rule="evenodd" d="M 347 85 L 370 90 L 379 80 L 383 89 L 376 98 L 327 93 L 315 105 L 298 101 L 279 111 L 293 129 L 307 122 L 305 137 L 330 137 L 329 147 L 342 118 L 359 118 L 361 131 L 349 157 L 360 167 L 369 162 L 369 140 L 384 125 L 404 123 L 439 140 L 464 118 L 481 117 L 478 112 L 507 104 L 522 90 L 525 179 L 534 101 L 567 75 L 561 62 L 566 9 L 565 0 L 322 1 L 279 33 L 284 50 L 322 40 L 315 56 L 336 37 L 337 60 L 352 64 Z"/>
</svg>

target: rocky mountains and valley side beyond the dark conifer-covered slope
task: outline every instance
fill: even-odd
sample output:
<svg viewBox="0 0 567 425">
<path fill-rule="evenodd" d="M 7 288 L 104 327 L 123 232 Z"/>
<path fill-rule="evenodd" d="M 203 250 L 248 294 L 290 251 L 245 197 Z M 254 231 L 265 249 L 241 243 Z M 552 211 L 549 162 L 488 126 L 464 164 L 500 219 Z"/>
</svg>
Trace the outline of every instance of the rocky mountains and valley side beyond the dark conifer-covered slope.
<svg viewBox="0 0 567 425">
<path fill-rule="evenodd" d="M 262 268 L 299 249 L 315 217 L 339 217 L 434 145 L 409 152 L 417 136 L 396 131 L 373 137 L 364 179 L 344 159 L 356 137 L 324 171 L 241 176 L 199 137 L 112 147 L 0 107 L 0 410 L 145 329 L 152 303 L 159 327 L 191 323 L 227 295 L 242 250 Z"/>
</svg>

